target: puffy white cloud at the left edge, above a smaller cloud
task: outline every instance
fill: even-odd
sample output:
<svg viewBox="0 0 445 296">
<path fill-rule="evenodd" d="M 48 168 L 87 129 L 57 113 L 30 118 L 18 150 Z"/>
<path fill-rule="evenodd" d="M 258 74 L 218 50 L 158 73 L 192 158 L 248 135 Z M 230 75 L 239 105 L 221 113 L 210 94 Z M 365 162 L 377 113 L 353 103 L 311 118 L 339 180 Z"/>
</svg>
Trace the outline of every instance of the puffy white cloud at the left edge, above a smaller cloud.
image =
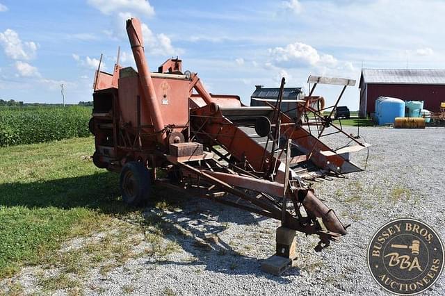
<svg viewBox="0 0 445 296">
<path fill-rule="evenodd" d="M 38 45 L 32 41 L 22 42 L 19 34 L 10 28 L 0 33 L 0 44 L 3 46 L 6 56 L 14 60 L 31 60 L 38 48 Z"/>
</svg>

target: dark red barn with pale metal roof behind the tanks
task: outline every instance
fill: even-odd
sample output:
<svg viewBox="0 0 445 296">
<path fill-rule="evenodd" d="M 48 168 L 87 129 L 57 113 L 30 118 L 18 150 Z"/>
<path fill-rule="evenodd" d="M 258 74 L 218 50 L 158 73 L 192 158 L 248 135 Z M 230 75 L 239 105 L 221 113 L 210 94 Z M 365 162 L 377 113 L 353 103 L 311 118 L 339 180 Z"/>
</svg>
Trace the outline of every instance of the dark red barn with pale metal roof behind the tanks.
<svg viewBox="0 0 445 296">
<path fill-rule="evenodd" d="M 359 89 L 360 117 L 374 113 L 378 97 L 423 101 L 423 108 L 438 112 L 445 101 L 445 70 L 362 69 Z"/>
</svg>

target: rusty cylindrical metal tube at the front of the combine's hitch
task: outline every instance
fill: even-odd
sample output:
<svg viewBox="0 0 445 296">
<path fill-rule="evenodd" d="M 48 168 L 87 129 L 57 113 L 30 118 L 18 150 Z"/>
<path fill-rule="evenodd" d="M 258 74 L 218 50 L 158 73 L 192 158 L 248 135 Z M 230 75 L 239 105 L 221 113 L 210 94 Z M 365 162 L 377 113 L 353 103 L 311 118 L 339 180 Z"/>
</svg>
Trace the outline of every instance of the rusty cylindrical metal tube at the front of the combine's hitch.
<svg viewBox="0 0 445 296">
<path fill-rule="evenodd" d="M 341 224 L 334 211 L 328 208 L 320 199 L 318 199 L 311 190 L 298 190 L 298 201 L 302 203 L 306 211 L 316 217 L 321 217 L 327 230 L 339 233 L 342 236 L 348 234 L 346 228 Z"/>
</svg>

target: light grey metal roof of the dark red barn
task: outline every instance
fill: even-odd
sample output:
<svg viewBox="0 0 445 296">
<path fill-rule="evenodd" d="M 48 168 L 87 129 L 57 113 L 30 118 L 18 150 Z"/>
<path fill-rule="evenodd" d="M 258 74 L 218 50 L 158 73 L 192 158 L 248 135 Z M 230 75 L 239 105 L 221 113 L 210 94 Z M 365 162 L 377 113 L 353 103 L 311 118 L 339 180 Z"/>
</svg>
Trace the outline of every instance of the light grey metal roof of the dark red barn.
<svg viewBox="0 0 445 296">
<path fill-rule="evenodd" d="M 445 69 L 362 69 L 364 83 L 445 85 Z"/>
</svg>

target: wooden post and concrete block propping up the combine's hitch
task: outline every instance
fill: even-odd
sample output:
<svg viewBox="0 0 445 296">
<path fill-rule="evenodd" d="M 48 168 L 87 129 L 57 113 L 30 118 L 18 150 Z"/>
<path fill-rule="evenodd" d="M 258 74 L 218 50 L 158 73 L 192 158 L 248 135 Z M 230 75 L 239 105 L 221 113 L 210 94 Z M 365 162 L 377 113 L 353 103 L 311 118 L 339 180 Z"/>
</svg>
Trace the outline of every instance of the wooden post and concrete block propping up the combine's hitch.
<svg viewBox="0 0 445 296">
<path fill-rule="evenodd" d="M 277 253 L 261 263 L 264 272 L 280 276 L 293 267 L 296 260 L 296 231 L 287 227 L 278 227 L 276 235 Z"/>
</svg>

